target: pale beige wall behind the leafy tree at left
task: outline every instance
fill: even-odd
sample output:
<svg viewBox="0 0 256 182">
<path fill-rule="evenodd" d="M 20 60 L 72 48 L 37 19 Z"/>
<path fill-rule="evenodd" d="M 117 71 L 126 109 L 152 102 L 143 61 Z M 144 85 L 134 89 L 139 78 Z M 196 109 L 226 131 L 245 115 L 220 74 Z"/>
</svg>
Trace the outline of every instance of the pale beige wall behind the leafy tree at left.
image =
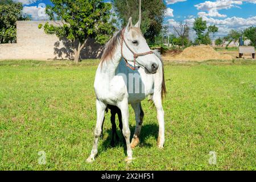
<svg viewBox="0 0 256 182">
<path fill-rule="evenodd" d="M 55 35 L 46 35 L 38 28 L 40 23 L 47 21 L 18 21 L 17 43 L 0 44 L 0 59 L 72 59 L 73 50 L 68 40 L 60 40 Z M 53 21 L 48 21 L 56 24 Z M 103 46 L 88 40 L 82 49 L 81 59 L 95 59 L 101 57 Z"/>
</svg>

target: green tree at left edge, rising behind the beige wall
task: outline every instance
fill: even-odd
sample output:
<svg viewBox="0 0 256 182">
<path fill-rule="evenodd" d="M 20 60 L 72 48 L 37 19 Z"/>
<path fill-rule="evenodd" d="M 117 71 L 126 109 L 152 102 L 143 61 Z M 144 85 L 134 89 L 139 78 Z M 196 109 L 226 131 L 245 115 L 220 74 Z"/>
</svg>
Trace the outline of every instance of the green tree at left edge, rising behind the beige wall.
<svg viewBox="0 0 256 182">
<path fill-rule="evenodd" d="M 16 21 L 29 20 L 22 15 L 22 3 L 11 0 L 0 1 L 0 43 L 16 41 Z"/>
</svg>

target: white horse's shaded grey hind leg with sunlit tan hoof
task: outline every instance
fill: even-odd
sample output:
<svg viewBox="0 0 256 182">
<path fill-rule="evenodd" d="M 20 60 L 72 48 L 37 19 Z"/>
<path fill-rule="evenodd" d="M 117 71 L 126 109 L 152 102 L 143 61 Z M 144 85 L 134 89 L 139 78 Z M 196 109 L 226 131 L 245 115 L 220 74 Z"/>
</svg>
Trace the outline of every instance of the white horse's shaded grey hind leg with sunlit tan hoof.
<svg viewBox="0 0 256 182">
<path fill-rule="evenodd" d="M 131 104 L 135 113 L 136 127 L 131 140 L 131 148 L 135 148 L 139 144 L 139 135 L 141 134 L 141 127 L 144 118 L 144 112 L 142 110 L 141 102 L 136 104 Z"/>
</svg>

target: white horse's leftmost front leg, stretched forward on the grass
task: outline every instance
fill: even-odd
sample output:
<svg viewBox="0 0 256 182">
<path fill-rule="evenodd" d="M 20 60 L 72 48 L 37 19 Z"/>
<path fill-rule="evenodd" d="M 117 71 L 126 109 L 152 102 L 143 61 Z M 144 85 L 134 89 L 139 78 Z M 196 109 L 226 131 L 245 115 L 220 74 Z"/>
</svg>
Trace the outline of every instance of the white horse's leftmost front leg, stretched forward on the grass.
<svg viewBox="0 0 256 182">
<path fill-rule="evenodd" d="M 94 130 L 94 142 L 93 142 L 92 152 L 90 153 L 89 158 L 86 160 L 86 162 L 88 163 L 92 163 L 95 160 L 95 156 L 98 153 L 98 139 L 102 132 L 101 127 L 104 120 L 106 105 L 103 102 L 97 100 L 96 109 L 97 109 L 97 123 L 96 123 L 96 128 Z"/>
</svg>

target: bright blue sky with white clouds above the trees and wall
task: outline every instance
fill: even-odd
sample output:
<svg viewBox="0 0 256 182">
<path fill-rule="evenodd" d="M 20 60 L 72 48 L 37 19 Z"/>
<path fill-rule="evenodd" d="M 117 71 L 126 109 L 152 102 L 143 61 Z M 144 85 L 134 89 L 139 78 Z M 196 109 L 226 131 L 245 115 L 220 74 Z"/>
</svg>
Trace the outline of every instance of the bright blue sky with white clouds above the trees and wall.
<svg viewBox="0 0 256 182">
<path fill-rule="evenodd" d="M 44 10 L 46 5 L 52 5 L 49 0 L 14 0 L 23 3 L 23 13 L 30 15 L 32 20 L 46 20 Z M 142 0 L 148 1 L 148 0 Z M 243 30 L 256 26 L 256 0 L 165 0 L 167 11 L 164 24 L 170 33 L 180 22 L 187 22 L 193 26 L 196 17 L 202 17 L 208 26 L 215 24 L 218 36 L 225 36 L 232 29 Z M 195 39 L 195 31 L 189 32 L 191 39 Z"/>
</svg>

